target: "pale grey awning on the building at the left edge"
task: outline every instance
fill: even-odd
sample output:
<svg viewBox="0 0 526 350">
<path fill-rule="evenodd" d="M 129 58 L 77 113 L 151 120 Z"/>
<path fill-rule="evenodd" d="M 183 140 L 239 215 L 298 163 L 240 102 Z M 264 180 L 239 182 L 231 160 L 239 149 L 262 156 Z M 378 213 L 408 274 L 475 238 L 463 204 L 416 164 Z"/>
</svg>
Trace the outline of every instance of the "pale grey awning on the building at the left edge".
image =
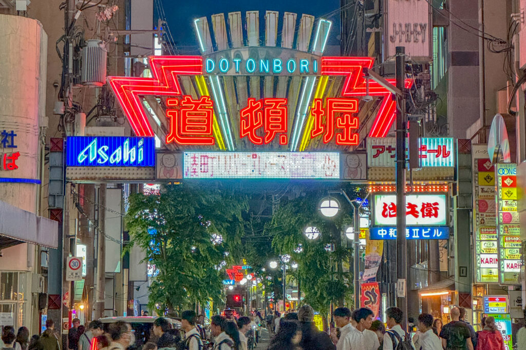
<svg viewBox="0 0 526 350">
<path fill-rule="evenodd" d="M 58 222 L 0 201 L 0 248 L 20 242 L 56 249 Z"/>
</svg>

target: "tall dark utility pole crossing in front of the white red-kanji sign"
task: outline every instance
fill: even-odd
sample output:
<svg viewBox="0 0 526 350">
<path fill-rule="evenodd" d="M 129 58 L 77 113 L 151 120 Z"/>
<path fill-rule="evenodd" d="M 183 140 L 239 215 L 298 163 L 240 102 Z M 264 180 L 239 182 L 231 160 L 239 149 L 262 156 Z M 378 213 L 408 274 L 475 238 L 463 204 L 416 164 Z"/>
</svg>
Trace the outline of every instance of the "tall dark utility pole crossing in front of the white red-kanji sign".
<svg viewBox="0 0 526 350">
<path fill-rule="evenodd" d="M 396 87 L 402 94 L 396 96 L 396 228 L 397 228 L 397 284 L 407 283 L 406 241 L 406 48 L 396 47 Z M 397 305 L 403 312 L 402 327 L 407 329 L 407 285 L 404 293 L 397 288 Z"/>
</svg>

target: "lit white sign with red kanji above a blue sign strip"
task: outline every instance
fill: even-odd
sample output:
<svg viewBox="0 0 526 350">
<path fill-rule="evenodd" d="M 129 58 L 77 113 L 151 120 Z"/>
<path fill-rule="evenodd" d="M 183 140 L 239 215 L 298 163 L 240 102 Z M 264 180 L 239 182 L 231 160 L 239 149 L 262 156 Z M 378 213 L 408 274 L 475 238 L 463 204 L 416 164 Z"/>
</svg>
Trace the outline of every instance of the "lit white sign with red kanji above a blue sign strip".
<svg viewBox="0 0 526 350">
<path fill-rule="evenodd" d="M 375 195 L 374 226 L 396 226 L 396 195 Z M 446 195 L 406 196 L 408 226 L 446 225 Z"/>
</svg>

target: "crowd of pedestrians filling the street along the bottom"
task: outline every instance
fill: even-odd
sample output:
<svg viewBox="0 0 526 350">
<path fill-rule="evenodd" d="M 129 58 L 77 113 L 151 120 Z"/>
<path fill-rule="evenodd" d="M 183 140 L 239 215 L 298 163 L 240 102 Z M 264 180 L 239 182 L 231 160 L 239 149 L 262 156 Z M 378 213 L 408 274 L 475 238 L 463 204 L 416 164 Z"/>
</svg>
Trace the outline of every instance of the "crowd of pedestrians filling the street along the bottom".
<svg viewBox="0 0 526 350">
<path fill-rule="evenodd" d="M 362 307 L 350 311 L 339 307 L 333 313 L 334 324 L 327 332 L 318 330 L 314 310 L 303 305 L 298 312 L 284 315 L 276 312 L 266 319 L 271 335 L 268 350 L 505 350 L 501 332 L 495 319 L 483 317 L 481 331 L 463 321 L 465 310 L 453 307 L 451 322 L 442 325 L 440 319 L 422 313 L 418 322 L 409 319 L 408 328 L 402 327 L 403 313 L 397 307 L 386 310 L 386 325 L 375 320 L 370 309 Z M 203 327 L 204 315 L 194 311 L 181 313 L 181 329 L 173 328 L 163 317 L 155 319 L 147 338 L 131 325 L 118 321 L 106 327 L 92 321 L 87 330 L 80 320 L 73 320 L 68 333 L 67 347 L 71 350 L 250 350 L 259 338 L 258 326 L 265 320 L 261 314 L 236 318 L 233 313 L 215 315 L 210 319 L 210 334 Z M 2 350 L 60 350 L 54 322 L 46 321 L 46 330 L 29 338 L 29 330 L 4 326 L 0 340 Z M 386 327 L 387 326 L 387 327 Z M 208 336 L 207 336 L 208 335 Z M 521 338 L 522 337 L 522 338 Z M 518 349 L 525 350 L 526 327 L 518 333 Z"/>
</svg>

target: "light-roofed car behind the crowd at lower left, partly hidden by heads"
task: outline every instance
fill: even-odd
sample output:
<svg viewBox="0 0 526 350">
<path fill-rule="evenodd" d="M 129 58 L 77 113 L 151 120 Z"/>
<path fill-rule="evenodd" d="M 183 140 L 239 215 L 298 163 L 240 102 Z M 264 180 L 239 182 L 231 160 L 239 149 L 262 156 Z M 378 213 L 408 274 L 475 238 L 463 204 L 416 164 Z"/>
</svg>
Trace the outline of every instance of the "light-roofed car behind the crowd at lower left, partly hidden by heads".
<svg viewBox="0 0 526 350">
<path fill-rule="evenodd" d="M 165 317 L 171 326 L 177 330 L 181 329 L 181 322 L 176 319 Z M 130 346 L 129 350 L 140 350 L 147 342 L 157 343 L 157 337 L 154 335 L 153 327 L 158 317 L 153 316 L 127 316 L 127 317 L 103 317 L 100 322 L 104 325 L 104 331 L 108 331 L 108 326 L 112 323 L 123 321 L 131 325 L 135 333 L 135 344 Z"/>
</svg>

